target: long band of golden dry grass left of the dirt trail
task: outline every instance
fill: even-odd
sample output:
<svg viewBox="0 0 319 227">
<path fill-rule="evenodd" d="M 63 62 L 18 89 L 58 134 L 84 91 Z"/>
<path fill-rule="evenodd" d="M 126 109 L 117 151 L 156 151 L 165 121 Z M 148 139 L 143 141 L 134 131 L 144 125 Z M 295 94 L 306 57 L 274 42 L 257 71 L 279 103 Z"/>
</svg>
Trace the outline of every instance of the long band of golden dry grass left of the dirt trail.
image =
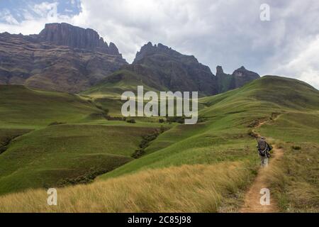
<svg viewBox="0 0 319 227">
<path fill-rule="evenodd" d="M 61 188 L 57 206 L 47 205 L 44 189 L 33 189 L 1 196 L 0 212 L 235 211 L 253 177 L 248 165 L 184 165 Z"/>
</svg>

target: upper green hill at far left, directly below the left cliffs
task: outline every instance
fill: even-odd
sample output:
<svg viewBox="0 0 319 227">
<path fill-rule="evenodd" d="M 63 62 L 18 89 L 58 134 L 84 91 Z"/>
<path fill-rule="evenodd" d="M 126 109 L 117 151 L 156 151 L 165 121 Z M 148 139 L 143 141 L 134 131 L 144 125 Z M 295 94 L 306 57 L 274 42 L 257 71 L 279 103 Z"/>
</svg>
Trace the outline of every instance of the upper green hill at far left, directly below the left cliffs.
<svg viewBox="0 0 319 227">
<path fill-rule="evenodd" d="M 55 121 L 72 123 L 101 112 L 75 94 L 0 85 L 0 128 L 40 128 Z"/>
</svg>

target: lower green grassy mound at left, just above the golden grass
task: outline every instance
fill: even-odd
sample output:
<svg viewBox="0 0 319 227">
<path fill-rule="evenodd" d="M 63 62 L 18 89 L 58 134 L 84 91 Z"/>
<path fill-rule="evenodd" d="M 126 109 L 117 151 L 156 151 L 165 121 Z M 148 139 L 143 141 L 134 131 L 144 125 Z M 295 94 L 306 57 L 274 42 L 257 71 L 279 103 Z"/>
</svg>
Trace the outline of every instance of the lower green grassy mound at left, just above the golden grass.
<svg viewBox="0 0 319 227">
<path fill-rule="evenodd" d="M 127 131 L 132 133 L 128 134 Z M 13 140 L 0 155 L 0 193 L 54 187 L 63 179 L 108 172 L 132 160 L 152 128 L 50 126 Z"/>
</svg>

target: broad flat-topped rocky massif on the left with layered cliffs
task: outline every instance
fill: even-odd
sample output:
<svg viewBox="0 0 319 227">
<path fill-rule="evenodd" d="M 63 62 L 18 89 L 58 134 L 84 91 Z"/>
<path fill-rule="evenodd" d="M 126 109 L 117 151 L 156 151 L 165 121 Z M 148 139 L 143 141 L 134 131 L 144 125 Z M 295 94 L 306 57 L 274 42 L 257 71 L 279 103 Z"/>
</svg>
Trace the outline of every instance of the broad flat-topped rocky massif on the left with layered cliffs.
<svg viewBox="0 0 319 227">
<path fill-rule="evenodd" d="M 0 84 L 80 92 L 127 65 L 92 29 L 47 24 L 39 35 L 0 34 Z"/>
</svg>

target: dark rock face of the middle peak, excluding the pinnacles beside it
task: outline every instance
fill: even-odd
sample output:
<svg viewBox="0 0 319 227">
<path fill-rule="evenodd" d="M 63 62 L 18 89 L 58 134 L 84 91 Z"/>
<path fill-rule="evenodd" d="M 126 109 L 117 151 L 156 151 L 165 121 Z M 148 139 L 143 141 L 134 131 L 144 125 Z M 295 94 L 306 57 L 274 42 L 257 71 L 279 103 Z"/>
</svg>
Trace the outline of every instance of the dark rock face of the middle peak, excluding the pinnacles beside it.
<svg viewBox="0 0 319 227">
<path fill-rule="evenodd" d="M 194 56 L 182 55 L 161 43 L 147 43 L 142 46 L 133 65 L 152 70 L 152 77 L 161 87 L 166 87 L 172 92 L 198 91 L 202 96 L 218 92 L 216 77 L 209 67 L 199 63 Z M 135 70 L 136 74 L 143 76 L 140 67 L 129 67 L 129 70 Z"/>
</svg>

